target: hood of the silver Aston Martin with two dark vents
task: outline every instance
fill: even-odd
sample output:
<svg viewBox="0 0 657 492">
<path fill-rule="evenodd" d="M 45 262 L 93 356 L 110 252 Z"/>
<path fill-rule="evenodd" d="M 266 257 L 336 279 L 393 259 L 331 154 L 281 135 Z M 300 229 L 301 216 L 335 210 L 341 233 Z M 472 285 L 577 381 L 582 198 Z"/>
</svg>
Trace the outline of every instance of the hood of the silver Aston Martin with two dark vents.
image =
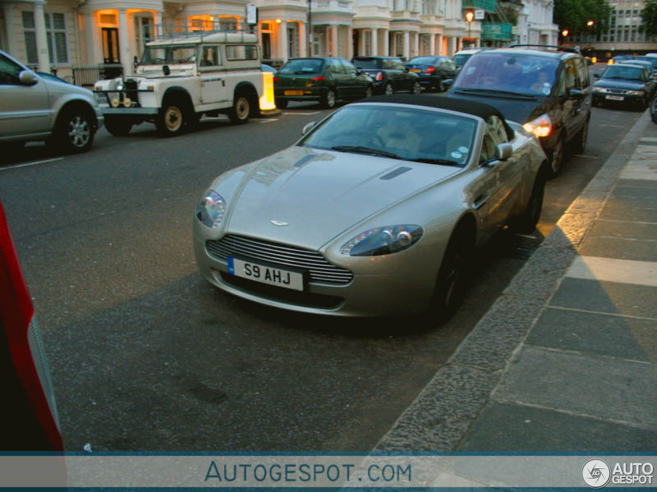
<svg viewBox="0 0 657 492">
<path fill-rule="evenodd" d="M 248 168 L 228 199 L 227 231 L 320 249 L 365 218 L 461 170 L 294 146 Z"/>
</svg>

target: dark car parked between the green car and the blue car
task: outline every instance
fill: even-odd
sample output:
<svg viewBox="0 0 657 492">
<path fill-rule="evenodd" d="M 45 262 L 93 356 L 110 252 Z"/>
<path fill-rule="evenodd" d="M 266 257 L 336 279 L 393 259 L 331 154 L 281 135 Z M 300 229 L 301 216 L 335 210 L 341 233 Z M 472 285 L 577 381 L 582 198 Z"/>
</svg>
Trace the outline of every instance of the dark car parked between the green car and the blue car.
<svg viewBox="0 0 657 492">
<path fill-rule="evenodd" d="M 395 56 L 356 56 L 351 63 L 363 73 L 367 73 L 374 83 L 374 94 L 393 94 L 412 92 L 420 94 L 422 86 L 417 73 L 409 73 Z"/>
</svg>

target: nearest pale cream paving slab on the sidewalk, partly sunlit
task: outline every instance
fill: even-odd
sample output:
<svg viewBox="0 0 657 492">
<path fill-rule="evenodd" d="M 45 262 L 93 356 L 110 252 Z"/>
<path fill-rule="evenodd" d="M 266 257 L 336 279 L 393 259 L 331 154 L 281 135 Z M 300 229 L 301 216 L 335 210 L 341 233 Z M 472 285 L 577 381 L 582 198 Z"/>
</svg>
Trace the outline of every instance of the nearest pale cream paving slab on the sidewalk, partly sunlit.
<svg viewBox="0 0 657 492">
<path fill-rule="evenodd" d="M 657 262 L 578 256 L 566 277 L 657 287 Z"/>
</svg>

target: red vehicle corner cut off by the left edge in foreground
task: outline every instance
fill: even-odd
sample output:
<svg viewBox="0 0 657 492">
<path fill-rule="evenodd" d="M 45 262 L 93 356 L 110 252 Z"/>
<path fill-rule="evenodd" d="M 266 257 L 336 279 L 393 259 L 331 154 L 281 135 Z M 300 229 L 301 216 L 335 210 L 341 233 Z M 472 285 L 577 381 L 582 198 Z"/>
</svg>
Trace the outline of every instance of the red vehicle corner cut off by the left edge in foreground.
<svg viewBox="0 0 657 492">
<path fill-rule="evenodd" d="M 18 264 L 5 211 L 0 203 L 0 352 L 3 380 L 20 414 L 3 436 L 1 449 L 63 451 L 57 409 L 30 293 Z M 20 409 L 20 410 L 18 410 Z M 9 422 L 8 422 L 9 423 Z"/>
</svg>

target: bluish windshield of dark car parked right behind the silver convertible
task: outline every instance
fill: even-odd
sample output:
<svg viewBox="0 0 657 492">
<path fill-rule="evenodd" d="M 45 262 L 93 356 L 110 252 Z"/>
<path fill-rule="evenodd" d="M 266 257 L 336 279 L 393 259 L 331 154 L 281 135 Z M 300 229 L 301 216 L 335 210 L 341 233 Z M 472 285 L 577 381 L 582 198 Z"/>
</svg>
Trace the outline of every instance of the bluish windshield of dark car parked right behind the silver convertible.
<svg viewBox="0 0 657 492">
<path fill-rule="evenodd" d="M 468 60 L 454 89 L 550 94 L 558 60 L 516 53 L 476 54 Z"/>
</svg>

